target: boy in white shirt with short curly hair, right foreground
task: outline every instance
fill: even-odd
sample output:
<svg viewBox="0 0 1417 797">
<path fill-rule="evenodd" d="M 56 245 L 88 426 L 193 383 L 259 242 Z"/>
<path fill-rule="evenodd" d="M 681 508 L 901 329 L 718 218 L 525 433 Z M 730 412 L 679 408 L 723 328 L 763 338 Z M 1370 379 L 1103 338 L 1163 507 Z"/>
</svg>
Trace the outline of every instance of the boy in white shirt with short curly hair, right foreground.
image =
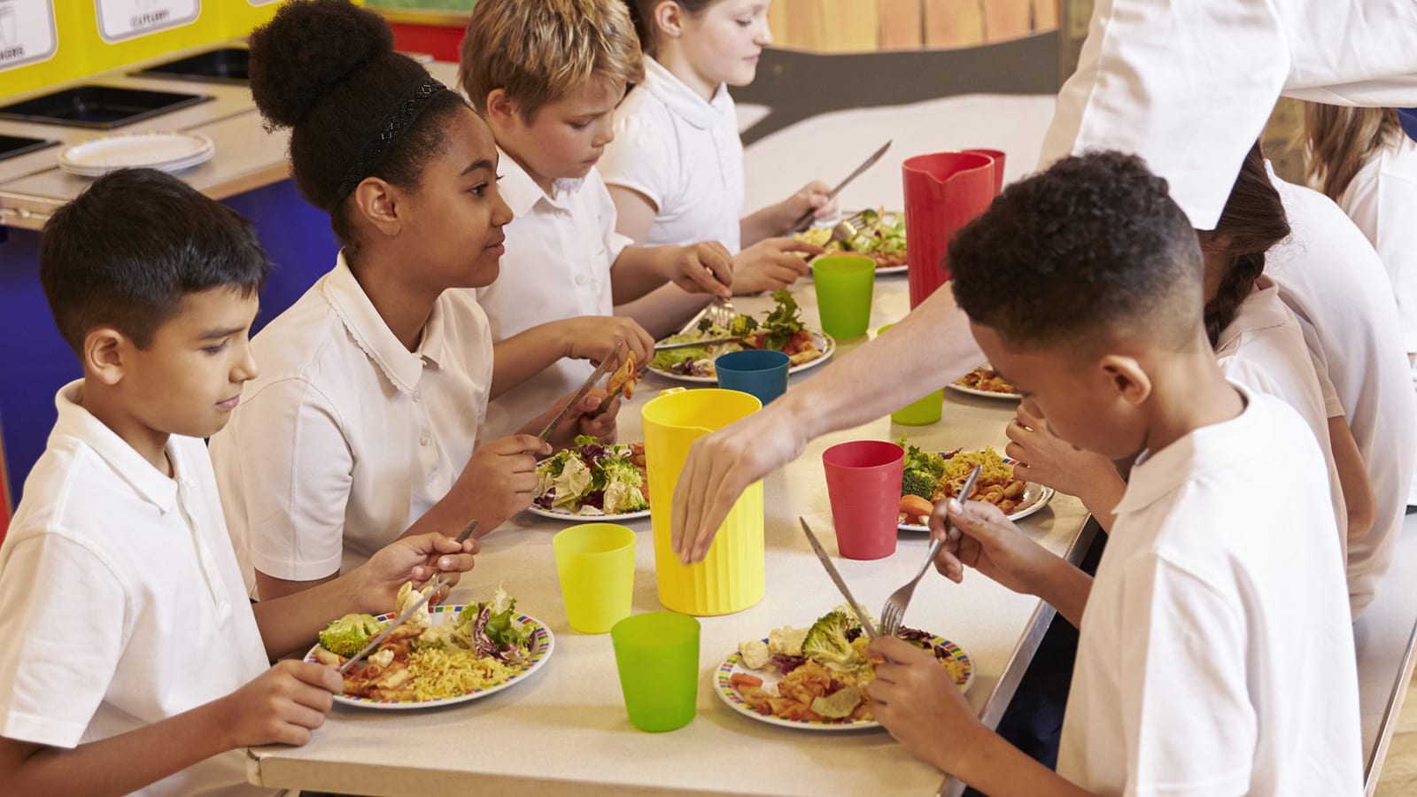
<svg viewBox="0 0 1417 797">
<path fill-rule="evenodd" d="M 1040 258 L 1046 261 L 1040 268 Z M 913 753 L 989 794 L 1357 794 L 1348 591 L 1322 454 L 1278 398 L 1224 379 L 1195 231 L 1121 153 L 1007 189 L 951 244 L 990 363 L 1073 445 L 1138 457 L 1095 579 L 990 505 L 942 503 L 938 560 L 1080 624 L 1057 771 L 979 722 L 900 640 L 867 686 Z M 1282 496 L 1275 501 L 1274 496 Z"/>
</svg>

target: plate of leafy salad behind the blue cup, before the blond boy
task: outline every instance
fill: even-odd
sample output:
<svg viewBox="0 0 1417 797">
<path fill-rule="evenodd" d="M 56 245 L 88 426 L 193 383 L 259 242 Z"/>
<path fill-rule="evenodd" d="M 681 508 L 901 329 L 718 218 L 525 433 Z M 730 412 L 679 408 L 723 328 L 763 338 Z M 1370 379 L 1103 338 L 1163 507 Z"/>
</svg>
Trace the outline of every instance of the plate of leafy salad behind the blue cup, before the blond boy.
<svg viewBox="0 0 1417 797">
<path fill-rule="evenodd" d="M 660 343 L 690 343 L 714 338 L 741 338 L 741 340 L 727 343 L 666 349 L 655 355 L 655 359 L 649 362 L 649 370 L 680 381 L 713 384 L 718 381 L 713 360 L 728 352 L 775 349 L 791 359 L 788 373 L 812 369 L 829 360 L 832 352 L 836 350 L 836 340 L 825 332 L 802 325 L 798 303 L 786 288 L 774 292 L 772 299 L 778 306 L 762 321 L 751 315 L 740 315 L 734 319 L 733 329 L 714 326 L 704 321 L 699 329 L 684 335 L 670 335 L 660 340 Z"/>
</svg>

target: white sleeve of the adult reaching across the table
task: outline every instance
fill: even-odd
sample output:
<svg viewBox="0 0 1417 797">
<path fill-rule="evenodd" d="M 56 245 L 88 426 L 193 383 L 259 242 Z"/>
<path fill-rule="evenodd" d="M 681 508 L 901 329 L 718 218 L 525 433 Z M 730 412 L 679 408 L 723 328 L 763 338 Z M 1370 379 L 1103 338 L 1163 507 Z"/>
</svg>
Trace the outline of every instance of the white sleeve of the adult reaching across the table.
<svg viewBox="0 0 1417 797">
<path fill-rule="evenodd" d="M 1136 153 L 1192 227 L 1213 230 L 1288 71 L 1267 0 L 1098 0 L 1039 167 L 1094 149 Z"/>
</svg>

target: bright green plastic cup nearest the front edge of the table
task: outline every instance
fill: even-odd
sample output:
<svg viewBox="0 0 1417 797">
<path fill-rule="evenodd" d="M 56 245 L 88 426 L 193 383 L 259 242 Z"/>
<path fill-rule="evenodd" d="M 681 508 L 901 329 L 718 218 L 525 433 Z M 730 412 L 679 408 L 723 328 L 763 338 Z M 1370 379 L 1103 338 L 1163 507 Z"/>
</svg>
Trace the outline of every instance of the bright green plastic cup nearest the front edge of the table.
<svg viewBox="0 0 1417 797">
<path fill-rule="evenodd" d="M 636 614 L 611 628 L 611 641 L 631 725 L 689 725 L 699 702 L 699 621 L 676 611 Z"/>
</svg>

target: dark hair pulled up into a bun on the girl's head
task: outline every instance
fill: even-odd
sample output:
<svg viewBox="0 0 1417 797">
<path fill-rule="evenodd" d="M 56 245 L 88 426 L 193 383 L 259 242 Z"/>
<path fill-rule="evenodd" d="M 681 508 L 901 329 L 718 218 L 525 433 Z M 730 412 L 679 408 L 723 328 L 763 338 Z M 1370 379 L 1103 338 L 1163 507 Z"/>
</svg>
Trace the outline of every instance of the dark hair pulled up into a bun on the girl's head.
<svg viewBox="0 0 1417 797">
<path fill-rule="evenodd" d="M 251 34 L 251 95 L 269 128 L 290 128 L 296 187 L 330 214 L 334 234 L 357 248 L 346 174 L 376 140 L 410 87 L 429 79 L 394 52 L 384 20 L 349 0 L 289 0 Z M 428 99 L 383 153 L 371 176 L 417 187 L 424 166 L 446 152 L 444 130 L 468 104 L 452 91 Z"/>
</svg>

